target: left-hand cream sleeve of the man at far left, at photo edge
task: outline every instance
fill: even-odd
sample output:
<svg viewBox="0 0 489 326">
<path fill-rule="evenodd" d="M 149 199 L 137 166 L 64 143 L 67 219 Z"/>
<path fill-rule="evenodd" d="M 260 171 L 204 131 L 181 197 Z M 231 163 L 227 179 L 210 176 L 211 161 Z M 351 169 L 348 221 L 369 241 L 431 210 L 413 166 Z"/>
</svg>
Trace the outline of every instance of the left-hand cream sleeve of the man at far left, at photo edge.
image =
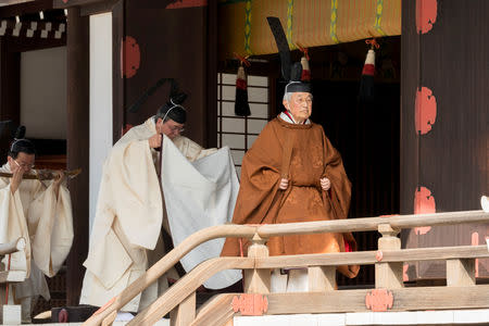
<svg viewBox="0 0 489 326">
<path fill-rule="evenodd" d="M 20 237 L 25 239 L 26 246 L 24 252 L 15 252 L 11 255 L 10 268 L 26 271 L 26 277 L 28 277 L 30 274 L 30 241 L 21 198 L 18 191 L 12 195 L 10 185 L 0 181 L 0 243 L 11 242 Z"/>
</svg>

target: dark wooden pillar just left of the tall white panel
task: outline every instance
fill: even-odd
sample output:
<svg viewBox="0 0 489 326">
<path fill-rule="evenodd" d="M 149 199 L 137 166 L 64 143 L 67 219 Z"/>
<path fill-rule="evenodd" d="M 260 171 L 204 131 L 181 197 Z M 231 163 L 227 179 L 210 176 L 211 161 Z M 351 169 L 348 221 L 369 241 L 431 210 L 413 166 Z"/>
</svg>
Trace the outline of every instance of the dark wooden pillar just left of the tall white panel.
<svg viewBox="0 0 489 326">
<path fill-rule="evenodd" d="M 77 305 L 85 275 L 83 262 L 88 253 L 89 183 L 89 22 L 79 8 L 67 16 L 67 166 L 83 173 L 70 180 L 75 238 L 67 258 L 67 305 Z"/>
</svg>

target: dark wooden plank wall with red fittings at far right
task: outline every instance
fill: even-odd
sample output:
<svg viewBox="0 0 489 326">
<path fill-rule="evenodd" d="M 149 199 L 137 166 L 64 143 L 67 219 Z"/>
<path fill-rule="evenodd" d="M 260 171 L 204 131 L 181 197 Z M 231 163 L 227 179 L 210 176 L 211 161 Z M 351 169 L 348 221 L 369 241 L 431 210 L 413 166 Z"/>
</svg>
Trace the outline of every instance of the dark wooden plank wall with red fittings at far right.
<svg viewBox="0 0 489 326">
<path fill-rule="evenodd" d="M 436 212 L 479 210 L 480 196 L 489 192 L 489 2 L 429 1 L 437 8 L 418 12 L 424 34 L 416 30 L 416 2 L 405 0 L 402 8 L 401 214 L 413 213 L 418 187 L 430 192 L 421 197 L 425 210 L 432 210 L 432 201 Z M 435 21 L 431 28 L 428 20 Z M 419 87 L 432 92 L 437 109 L 431 129 L 422 135 L 415 129 Z M 486 225 L 440 226 L 404 233 L 403 242 L 482 244 L 487 234 Z M 488 277 L 488 269 L 479 260 L 476 275 Z M 410 279 L 444 274 L 444 264 L 435 262 L 408 269 Z"/>
</svg>

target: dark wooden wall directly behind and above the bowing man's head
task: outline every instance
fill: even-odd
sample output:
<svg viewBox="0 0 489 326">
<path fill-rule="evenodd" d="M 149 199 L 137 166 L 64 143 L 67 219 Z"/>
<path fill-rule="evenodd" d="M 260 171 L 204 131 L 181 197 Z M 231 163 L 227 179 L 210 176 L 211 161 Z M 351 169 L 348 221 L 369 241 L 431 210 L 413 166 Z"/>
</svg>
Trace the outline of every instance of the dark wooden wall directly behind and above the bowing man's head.
<svg viewBox="0 0 489 326">
<path fill-rule="evenodd" d="M 217 84 L 208 80 L 216 80 L 217 70 L 216 64 L 208 64 L 206 52 L 208 49 L 214 49 L 213 60 L 216 61 L 216 38 L 208 39 L 209 10 L 212 8 L 215 12 L 216 7 L 206 5 L 205 1 L 195 4 L 196 7 L 183 8 L 177 5 L 178 2 L 171 5 L 168 3 L 152 0 L 125 1 L 125 39 L 127 41 L 130 37 L 136 41 L 140 60 L 134 74 L 125 74 L 124 105 L 130 105 L 160 78 L 176 78 L 180 89 L 189 95 L 184 103 L 187 109 L 185 136 L 204 147 L 215 146 L 215 137 L 208 137 L 206 113 L 215 111 L 208 110 L 208 95 L 216 93 Z M 215 29 L 215 26 L 211 28 Z M 129 57 L 126 60 L 130 60 Z M 213 78 L 208 79 L 211 77 Z M 153 115 L 168 100 L 168 89 L 167 86 L 160 88 L 138 113 L 124 113 L 125 123 L 137 125 Z"/>
</svg>

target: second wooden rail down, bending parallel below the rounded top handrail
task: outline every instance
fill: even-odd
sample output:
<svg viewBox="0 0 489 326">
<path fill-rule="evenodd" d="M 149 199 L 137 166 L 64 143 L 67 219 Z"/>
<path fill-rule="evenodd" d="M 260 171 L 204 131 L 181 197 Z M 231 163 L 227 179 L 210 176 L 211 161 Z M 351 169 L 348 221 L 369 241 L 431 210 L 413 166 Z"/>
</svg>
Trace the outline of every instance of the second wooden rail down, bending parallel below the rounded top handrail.
<svg viewBox="0 0 489 326">
<path fill-rule="evenodd" d="M 225 269 L 277 268 L 301 266 L 338 266 L 343 264 L 375 264 L 376 251 L 283 255 L 269 258 L 218 258 L 205 261 L 179 279 L 147 309 L 137 314 L 127 326 L 153 325 L 191 294 L 214 274 Z M 447 259 L 489 258 L 487 246 L 419 248 L 386 251 L 383 262 L 427 261 Z"/>
</svg>

